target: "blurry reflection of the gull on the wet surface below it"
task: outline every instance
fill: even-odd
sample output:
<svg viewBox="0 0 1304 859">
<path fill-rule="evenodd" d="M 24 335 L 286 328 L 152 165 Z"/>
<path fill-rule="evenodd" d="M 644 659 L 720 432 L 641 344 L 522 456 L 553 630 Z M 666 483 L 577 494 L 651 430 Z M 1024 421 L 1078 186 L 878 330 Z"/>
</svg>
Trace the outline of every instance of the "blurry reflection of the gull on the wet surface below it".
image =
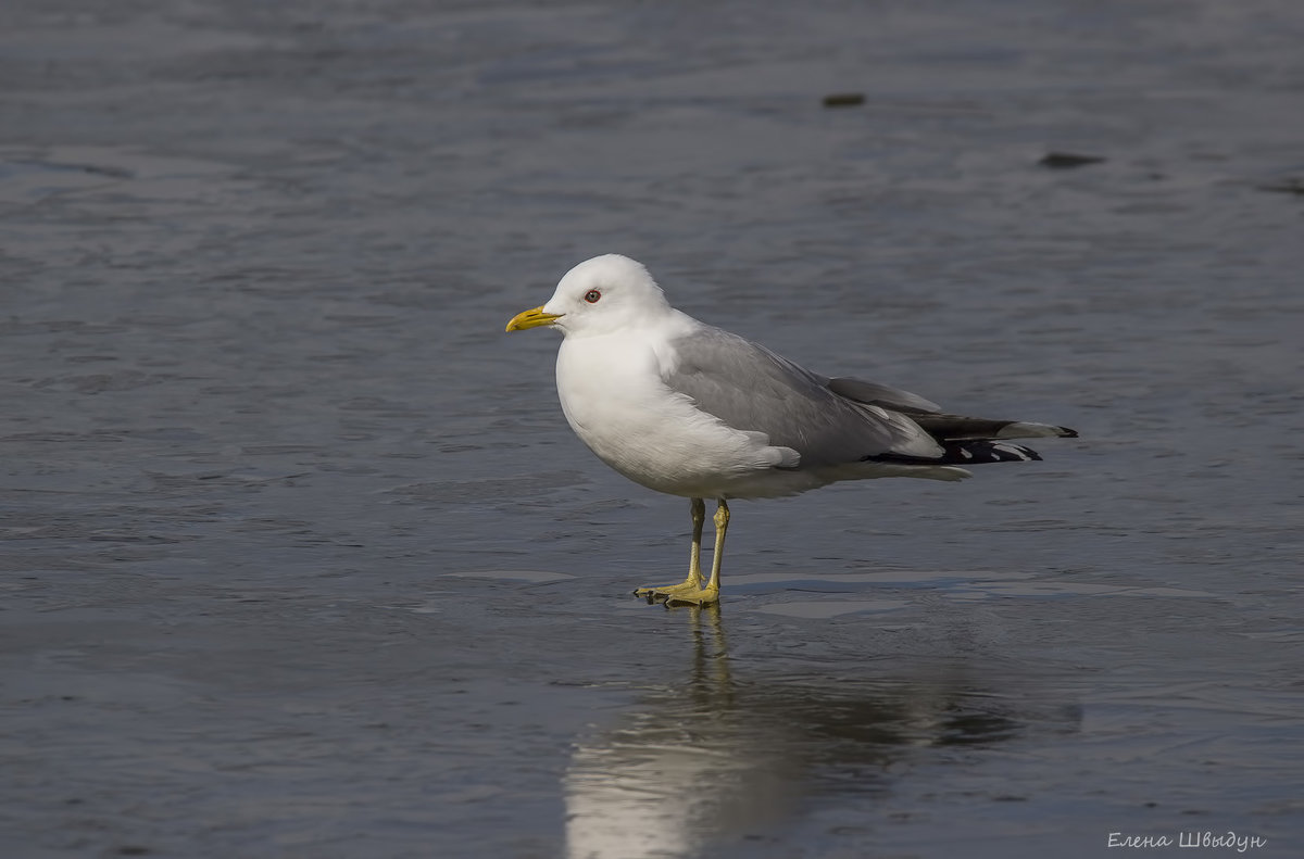
<svg viewBox="0 0 1304 859">
<path fill-rule="evenodd" d="M 961 674 L 739 680 L 719 605 L 689 609 L 692 671 L 582 738 L 567 768 L 569 859 L 690 858 L 721 839 L 765 838 L 816 791 L 887 790 L 921 747 L 1024 733 L 1026 700 L 975 691 Z M 1073 706 L 1037 721 L 1076 730 Z"/>
</svg>

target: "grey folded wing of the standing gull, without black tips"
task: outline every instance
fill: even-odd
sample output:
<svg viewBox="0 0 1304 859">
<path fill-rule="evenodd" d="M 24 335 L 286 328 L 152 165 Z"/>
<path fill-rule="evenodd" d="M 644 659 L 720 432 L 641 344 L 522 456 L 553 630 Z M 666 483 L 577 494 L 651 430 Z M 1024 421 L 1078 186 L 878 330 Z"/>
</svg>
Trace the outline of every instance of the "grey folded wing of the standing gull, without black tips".
<svg viewBox="0 0 1304 859">
<path fill-rule="evenodd" d="M 771 444 L 792 447 L 802 456 L 801 468 L 841 465 L 884 454 L 941 455 L 940 447 L 904 415 L 840 395 L 828 378 L 735 334 L 702 326 L 670 345 L 678 358 L 664 374 L 670 390 L 690 396 L 703 412 L 734 429 L 765 433 Z M 838 382 L 854 382 L 862 391 L 872 388 L 878 400 L 906 398 L 932 405 L 887 386 Z M 891 398 L 883 396 L 887 392 Z"/>
</svg>

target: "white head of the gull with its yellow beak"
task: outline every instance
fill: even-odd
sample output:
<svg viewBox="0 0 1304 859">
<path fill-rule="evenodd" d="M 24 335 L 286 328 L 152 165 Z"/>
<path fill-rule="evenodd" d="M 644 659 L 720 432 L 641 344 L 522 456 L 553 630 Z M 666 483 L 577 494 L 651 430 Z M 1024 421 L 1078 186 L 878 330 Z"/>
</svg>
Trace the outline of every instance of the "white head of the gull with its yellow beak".
<svg viewBox="0 0 1304 859">
<path fill-rule="evenodd" d="M 567 271 L 548 304 L 518 313 L 507 330 L 552 326 L 566 335 L 612 334 L 669 309 L 661 287 L 643 263 L 604 254 Z"/>
</svg>

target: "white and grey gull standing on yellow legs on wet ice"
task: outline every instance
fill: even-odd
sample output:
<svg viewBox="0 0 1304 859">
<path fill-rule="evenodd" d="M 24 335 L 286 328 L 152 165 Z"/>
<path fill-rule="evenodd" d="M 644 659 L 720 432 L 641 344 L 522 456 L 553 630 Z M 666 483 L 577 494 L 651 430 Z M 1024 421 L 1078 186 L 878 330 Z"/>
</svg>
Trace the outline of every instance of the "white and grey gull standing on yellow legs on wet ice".
<svg viewBox="0 0 1304 859">
<path fill-rule="evenodd" d="M 1076 438 L 1029 421 L 962 417 L 900 388 L 829 378 L 675 310 L 648 270 L 587 259 L 507 331 L 562 332 L 557 395 L 599 459 L 648 489 L 690 499 L 682 583 L 638 588 L 648 602 L 720 600 L 729 501 L 795 495 L 842 480 L 964 480 L 965 465 L 1038 460 L 1012 438 Z M 716 502 L 711 576 L 702 572 L 705 499 Z"/>
</svg>

